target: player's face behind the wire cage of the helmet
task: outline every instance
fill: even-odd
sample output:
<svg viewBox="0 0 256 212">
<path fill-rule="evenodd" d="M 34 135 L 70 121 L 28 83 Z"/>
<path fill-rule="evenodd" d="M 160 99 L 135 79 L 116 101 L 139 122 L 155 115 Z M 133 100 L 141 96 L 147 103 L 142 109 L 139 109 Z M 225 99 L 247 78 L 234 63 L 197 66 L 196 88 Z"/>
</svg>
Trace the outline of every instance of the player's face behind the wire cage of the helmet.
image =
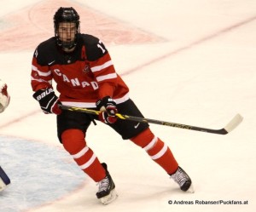
<svg viewBox="0 0 256 212">
<path fill-rule="evenodd" d="M 58 29 L 58 36 L 61 42 L 70 43 L 75 39 L 77 27 L 72 22 L 61 22 Z"/>
</svg>

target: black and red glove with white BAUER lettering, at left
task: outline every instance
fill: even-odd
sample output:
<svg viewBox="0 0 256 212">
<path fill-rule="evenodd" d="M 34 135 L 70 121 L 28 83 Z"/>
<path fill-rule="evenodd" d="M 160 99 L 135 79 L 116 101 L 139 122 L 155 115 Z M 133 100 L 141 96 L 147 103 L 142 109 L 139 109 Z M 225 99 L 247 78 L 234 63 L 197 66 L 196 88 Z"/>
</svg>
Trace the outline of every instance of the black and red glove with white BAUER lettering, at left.
<svg viewBox="0 0 256 212">
<path fill-rule="evenodd" d="M 55 95 L 55 91 L 52 88 L 39 89 L 33 97 L 35 100 L 38 100 L 44 113 L 55 113 L 56 115 L 61 114 L 61 108 L 58 106 L 61 102 Z"/>
</svg>

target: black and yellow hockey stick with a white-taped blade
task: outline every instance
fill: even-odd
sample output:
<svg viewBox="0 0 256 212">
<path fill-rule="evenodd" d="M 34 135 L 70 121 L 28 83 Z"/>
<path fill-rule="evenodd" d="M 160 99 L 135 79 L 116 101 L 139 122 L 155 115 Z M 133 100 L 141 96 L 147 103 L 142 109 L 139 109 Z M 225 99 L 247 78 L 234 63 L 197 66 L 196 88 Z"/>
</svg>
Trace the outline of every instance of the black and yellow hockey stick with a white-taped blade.
<svg viewBox="0 0 256 212">
<path fill-rule="evenodd" d="M 99 115 L 100 113 L 99 111 L 87 109 L 84 107 L 64 106 L 64 105 L 60 105 L 60 107 L 63 110 L 73 111 L 73 112 L 85 112 L 85 113 L 94 114 L 94 115 Z M 133 117 L 128 115 L 123 115 L 120 113 L 117 113 L 116 117 L 120 119 L 139 122 L 139 123 L 155 123 L 155 124 L 165 125 L 173 128 L 196 130 L 204 133 L 212 133 L 212 134 L 219 134 L 219 135 L 226 135 L 230 133 L 233 129 L 235 129 L 238 126 L 239 123 L 241 123 L 243 119 L 243 117 L 241 117 L 240 114 L 236 114 L 236 116 L 233 117 L 232 120 L 223 129 L 207 129 L 207 128 L 195 127 L 195 126 L 191 126 L 183 123 L 170 123 L 170 122 L 155 120 L 155 119 L 146 118 L 146 117 Z"/>
</svg>

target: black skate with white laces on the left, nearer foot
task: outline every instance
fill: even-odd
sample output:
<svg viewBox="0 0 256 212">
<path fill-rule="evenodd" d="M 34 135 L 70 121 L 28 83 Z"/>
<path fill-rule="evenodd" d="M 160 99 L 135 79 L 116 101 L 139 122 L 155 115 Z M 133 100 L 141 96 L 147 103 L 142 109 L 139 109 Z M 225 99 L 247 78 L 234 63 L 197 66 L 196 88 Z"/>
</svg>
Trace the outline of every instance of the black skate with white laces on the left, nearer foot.
<svg viewBox="0 0 256 212">
<path fill-rule="evenodd" d="M 114 182 L 112 177 L 109 175 L 107 164 L 102 163 L 103 168 L 106 170 L 106 177 L 98 182 L 99 191 L 96 192 L 96 197 L 102 202 L 102 204 L 112 203 L 118 195 L 115 192 Z"/>
</svg>

